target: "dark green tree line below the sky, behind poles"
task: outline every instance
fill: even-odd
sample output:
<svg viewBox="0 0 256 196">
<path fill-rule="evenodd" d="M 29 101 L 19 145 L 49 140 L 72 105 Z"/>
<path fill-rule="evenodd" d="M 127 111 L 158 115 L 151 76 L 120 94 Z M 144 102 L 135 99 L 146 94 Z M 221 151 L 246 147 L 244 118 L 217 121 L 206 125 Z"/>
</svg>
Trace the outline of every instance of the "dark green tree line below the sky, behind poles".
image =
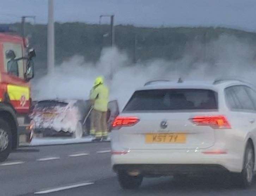
<svg viewBox="0 0 256 196">
<path fill-rule="evenodd" d="M 20 33 L 20 23 L 11 24 Z M 47 62 L 47 25 L 25 24 L 25 34 L 37 52 L 37 63 L 45 68 Z M 202 47 L 221 35 L 235 36 L 256 45 L 256 34 L 222 27 L 136 27 L 115 26 L 115 45 L 127 52 L 133 62 L 152 58 L 176 60 L 182 58 L 193 43 Z M 102 48 L 110 46 L 110 26 L 86 23 L 55 23 L 55 61 L 57 64 L 74 56 L 84 56 L 96 62 Z"/>
</svg>

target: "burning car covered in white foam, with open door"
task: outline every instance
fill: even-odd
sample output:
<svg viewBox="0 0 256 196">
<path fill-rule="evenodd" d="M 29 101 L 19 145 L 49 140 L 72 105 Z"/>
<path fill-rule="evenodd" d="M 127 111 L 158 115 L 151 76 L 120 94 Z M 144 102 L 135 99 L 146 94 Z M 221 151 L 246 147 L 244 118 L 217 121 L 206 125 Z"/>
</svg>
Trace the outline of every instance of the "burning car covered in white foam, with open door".
<svg viewBox="0 0 256 196">
<path fill-rule="evenodd" d="M 119 114 L 117 101 L 110 101 L 108 127 Z M 30 114 L 32 137 L 69 136 L 81 138 L 90 131 L 89 100 L 42 100 L 36 102 Z"/>
</svg>

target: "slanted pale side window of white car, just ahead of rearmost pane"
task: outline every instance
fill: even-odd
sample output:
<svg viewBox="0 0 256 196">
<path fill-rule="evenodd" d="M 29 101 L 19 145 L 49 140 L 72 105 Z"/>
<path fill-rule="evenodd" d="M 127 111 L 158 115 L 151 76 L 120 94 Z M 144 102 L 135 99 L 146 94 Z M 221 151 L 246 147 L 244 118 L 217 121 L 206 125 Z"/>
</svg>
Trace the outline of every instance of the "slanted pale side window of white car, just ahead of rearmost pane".
<svg viewBox="0 0 256 196">
<path fill-rule="evenodd" d="M 250 99 L 247 91 L 245 90 L 244 86 L 233 86 L 232 90 L 234 92 L 234 96 L 237 97 L 242 109 L 245 110 L 255 110 L 254 103 Z M 240 109 L 240 108 L 239 108 Z"/>
</svg>

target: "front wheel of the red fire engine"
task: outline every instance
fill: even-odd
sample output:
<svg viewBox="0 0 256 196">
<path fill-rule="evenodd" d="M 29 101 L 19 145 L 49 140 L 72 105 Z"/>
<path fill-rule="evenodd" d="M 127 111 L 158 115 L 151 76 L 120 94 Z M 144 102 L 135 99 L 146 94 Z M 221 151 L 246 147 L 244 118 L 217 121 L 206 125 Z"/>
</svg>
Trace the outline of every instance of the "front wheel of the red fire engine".
<svg viewBox="0 0 256 196">
<path fill-rule="evenodd" d="M 7 159 L 12 150 L 12 132 L 8 123 L 0 118 L 0 162 Z"/>
</svg>

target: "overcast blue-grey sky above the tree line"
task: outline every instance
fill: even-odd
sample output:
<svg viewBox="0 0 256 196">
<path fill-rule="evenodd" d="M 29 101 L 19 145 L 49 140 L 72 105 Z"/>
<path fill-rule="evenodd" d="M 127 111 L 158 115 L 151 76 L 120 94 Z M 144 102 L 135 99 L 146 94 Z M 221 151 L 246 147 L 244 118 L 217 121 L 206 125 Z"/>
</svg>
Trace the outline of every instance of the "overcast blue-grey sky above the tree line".
<svg viewBox="0 0 256 196">
<path fill-rule="evenodd" d="M 47 23 L 48 0 L 2 0 L 0 23 L 35 15 Z M 54 0 L 55 21 L 98 23 L 115 14 L 115 24 L 136 26 L 227 26 L 256 31 L 256 0 Z M 108 19 L 103 20 L 104 23 Z"/>
</svg>

